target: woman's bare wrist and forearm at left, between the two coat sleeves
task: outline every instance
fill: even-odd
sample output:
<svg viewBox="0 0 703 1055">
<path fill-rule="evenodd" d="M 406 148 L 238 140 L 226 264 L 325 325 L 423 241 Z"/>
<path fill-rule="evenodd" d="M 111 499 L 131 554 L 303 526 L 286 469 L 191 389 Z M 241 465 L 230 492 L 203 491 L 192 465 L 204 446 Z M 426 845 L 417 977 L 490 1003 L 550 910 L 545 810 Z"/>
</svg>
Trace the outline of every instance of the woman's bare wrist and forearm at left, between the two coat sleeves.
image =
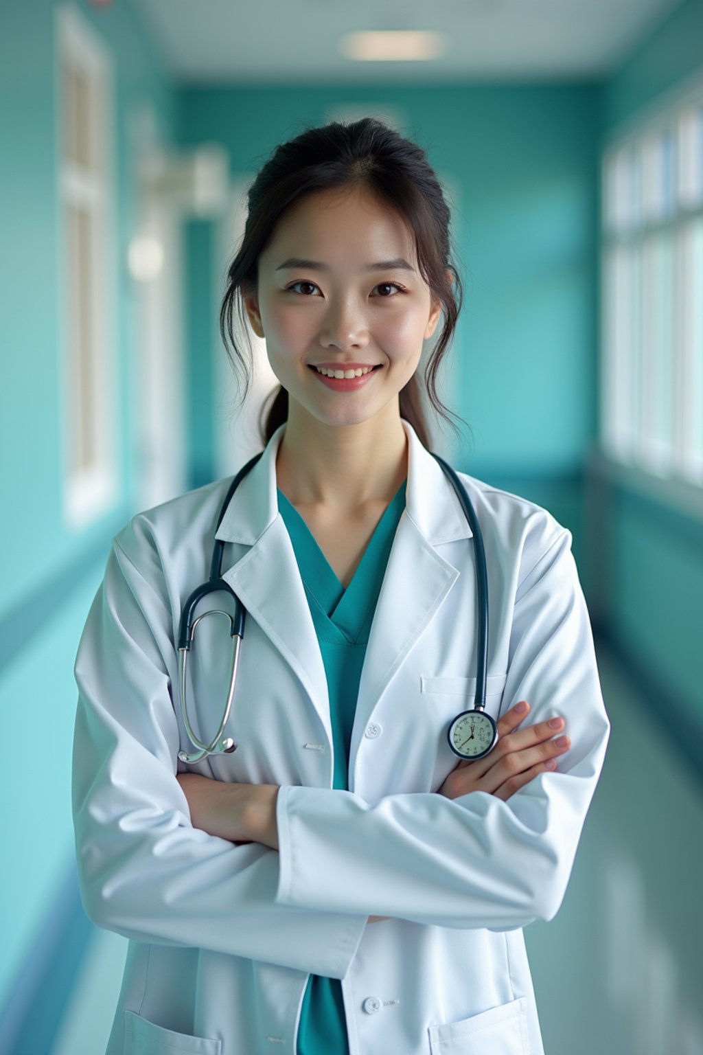
<svg viewBox="0 0 703 1055">
<path fill-rule="evenodd" d="M 231 843 L 261 843 L 278 849 L 275 784 L 228 784 L 199 773 L 178 773 L 194 828 Z"/>
</svg>

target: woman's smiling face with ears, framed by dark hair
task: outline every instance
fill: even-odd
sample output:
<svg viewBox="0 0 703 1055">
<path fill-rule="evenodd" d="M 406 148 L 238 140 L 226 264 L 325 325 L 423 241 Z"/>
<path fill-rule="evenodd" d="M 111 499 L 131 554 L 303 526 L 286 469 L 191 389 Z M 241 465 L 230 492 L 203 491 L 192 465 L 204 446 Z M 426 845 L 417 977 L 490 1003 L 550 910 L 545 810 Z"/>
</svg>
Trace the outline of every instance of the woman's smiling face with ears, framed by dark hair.
<svg viewBox="0 0 703 1055">
<path fill-rule="evenodd" d="M 315 191 L 292 207 L 245 303 L 289 400 L 330 425 L 367 421 L 397 399 L 441 313 L 405 220 L 358 188 Z M 339 381 L 320 367 L 355 376 Z"/>
</svg>

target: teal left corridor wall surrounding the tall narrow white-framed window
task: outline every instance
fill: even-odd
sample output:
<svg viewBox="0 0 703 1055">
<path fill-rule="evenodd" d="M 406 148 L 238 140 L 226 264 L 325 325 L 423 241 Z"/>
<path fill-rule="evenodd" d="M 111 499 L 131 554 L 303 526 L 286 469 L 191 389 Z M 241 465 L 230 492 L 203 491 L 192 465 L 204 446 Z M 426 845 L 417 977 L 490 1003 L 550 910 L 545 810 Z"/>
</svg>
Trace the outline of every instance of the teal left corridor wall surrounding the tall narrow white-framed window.
<svg viewBox="0 0 703 1055">
<path fill-rule="evenodd" d="M 163 135 L 173 137 L 177 115 L 158 53 L 131 0 L 106 8 L 76 3 L 114 61 L 119 263 L 113 293 L 120 439 L 114 507 L 90 529 L 74 531 L 63 520 L 61 501 L 55 6 L 50 0 L 9 0 L 0 7 L 0 713 L 5 745 L 0 795 L 2 842 L 12 847 L 13 863 L 0 880 L 0 1006 L 73 866 L 73 660 L 110 537 L 126 519 L 134 495 L 135 304 L 122 263 L 135 211 L 130 118 L 135 107 L 149 101 Z"/>
</svg>

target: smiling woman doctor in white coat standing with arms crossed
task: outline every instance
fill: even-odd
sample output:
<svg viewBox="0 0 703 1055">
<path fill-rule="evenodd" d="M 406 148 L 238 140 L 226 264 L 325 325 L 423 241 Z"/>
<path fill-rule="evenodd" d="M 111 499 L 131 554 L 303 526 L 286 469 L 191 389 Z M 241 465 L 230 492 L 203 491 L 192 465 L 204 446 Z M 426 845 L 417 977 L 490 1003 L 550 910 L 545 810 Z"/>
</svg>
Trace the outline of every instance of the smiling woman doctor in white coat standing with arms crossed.
<svg viewBox="0 0 703 1055">
<path fill-rule="evenodd" d="M 448 223 L 424 151 L 370 118 L 278 147 L 249 192 L 221 322 L 246 368 L 238 299 L 281 389 L 217 530 L 248 611 L 236 751 L 178 761 L 180 610 L 229 481 L 120 532 L 76 660 L 82 895 L 130 939 L 111 1055 L 543 1051 L 521 928 L 560 906 L 608 722 L 569 533 L 463 474 L 500 738 L 458 764 L 447 742 L 476 654 L 471 530 L 423 411 L 446 416 Z M 217 624 L 189 675 L 203 737 Z"/>
</svg>

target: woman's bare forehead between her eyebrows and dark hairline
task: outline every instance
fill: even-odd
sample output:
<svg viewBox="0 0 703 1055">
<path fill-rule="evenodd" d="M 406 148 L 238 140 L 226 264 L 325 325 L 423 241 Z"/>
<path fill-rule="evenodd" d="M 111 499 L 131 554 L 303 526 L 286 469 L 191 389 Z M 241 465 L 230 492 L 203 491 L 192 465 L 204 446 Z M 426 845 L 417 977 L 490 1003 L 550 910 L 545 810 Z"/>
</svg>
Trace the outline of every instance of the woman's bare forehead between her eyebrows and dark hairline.
<svg viewBox="0 0 703 1055">
<path fill-rule="evenodd" d="M 415 262 L 414 236 L 405 217 L 373 191 L 353 186 L 311 191 L 291 206 L 261 257 L 275 267 L 280 253 Z"/>
</svg>

